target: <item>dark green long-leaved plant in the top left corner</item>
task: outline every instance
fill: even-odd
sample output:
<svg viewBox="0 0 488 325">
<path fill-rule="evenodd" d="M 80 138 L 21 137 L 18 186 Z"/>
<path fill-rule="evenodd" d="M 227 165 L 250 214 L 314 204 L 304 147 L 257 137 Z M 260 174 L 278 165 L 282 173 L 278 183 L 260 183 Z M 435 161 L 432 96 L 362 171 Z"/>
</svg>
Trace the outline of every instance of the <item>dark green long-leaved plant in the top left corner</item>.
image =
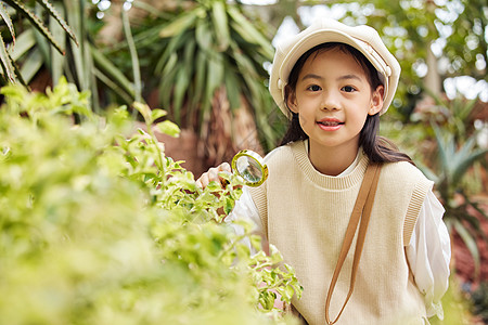
<svg viewBox="0 0 488 325">
<path fill-rule="evenodd" d="M 13 78 L 16 76 L 24 84 L 28 84 L 37 74 L 47 68 L 54 84 L 62 76 L 66 76 L 79 90 L 90 90 L 93 94 L 91 106 L 94 110 L 100 110 L 101 98 L 112 95 L 127 104 L 132 103 L 134 99 L 142 100 L 132 82 L 95 46 L 90 25 L 97 23 L 90 17 L 89 1 L 3 2 L 10 6 L 0 6 L 0 13 L 12 38 L 11 42 L 8 42 L 7 56 L 1 55 L 1 47 L 5 47 L 5 42 L 0 42 L 0 57 L 3 62 L 5 56 L 7 64 L 13 69 L 20 67 L 15 75 L 7 74 L 11 76 L 7 81 L 14 82 Z M 15 37 L 15 26 L 21 30 L 18 37 Z M 127 37 L 129 39 L 130 34 Z M 136 80 L 134 83 L 140 82 Z M 105 88 L 101 89 L 100 84 Z M 103 94 L 99 93 L 100 90 Z"/>
</svg>

